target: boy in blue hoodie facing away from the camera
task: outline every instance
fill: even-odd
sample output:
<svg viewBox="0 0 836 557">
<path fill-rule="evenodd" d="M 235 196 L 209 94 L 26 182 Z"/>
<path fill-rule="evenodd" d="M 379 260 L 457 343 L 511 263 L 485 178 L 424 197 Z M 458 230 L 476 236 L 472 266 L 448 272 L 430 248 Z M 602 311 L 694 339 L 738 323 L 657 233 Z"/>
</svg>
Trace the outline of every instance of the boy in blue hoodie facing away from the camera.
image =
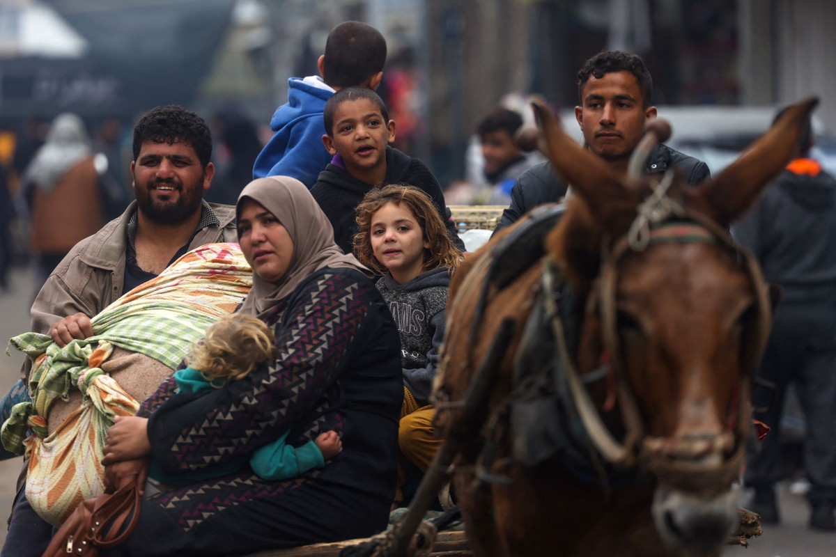
<svg viewBox="0 0 836 557">
<path fill-rule="evenodd" d="M 288 80 L 288 102 L 270 120 L 273 139 L 258 154 L 253 179 L 291 176 L 310 189 L 331 162 L 321 139 L 325 102 L 346 87 L 377 89 L 385 62 L 386 41 L 377 29 L 356 21 L 332 29 L 317 61 L 322 78 Z"/>
</svg>

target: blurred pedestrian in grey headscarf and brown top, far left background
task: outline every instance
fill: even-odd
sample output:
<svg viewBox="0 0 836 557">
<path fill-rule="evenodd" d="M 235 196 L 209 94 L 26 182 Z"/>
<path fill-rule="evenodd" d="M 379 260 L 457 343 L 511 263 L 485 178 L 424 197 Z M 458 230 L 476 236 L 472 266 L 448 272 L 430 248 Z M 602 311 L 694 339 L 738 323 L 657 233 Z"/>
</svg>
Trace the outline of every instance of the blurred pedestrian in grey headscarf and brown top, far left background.
<svg viewBox="0 0 836 557">
<path fill-rule="evenodd" d="M 23 174 L 30 214 L 29 250 L 37 288 L 70 248 L 102 227 L 99 177 L 90 138 L 76 114 L 60 114 Z"/>
</svg>

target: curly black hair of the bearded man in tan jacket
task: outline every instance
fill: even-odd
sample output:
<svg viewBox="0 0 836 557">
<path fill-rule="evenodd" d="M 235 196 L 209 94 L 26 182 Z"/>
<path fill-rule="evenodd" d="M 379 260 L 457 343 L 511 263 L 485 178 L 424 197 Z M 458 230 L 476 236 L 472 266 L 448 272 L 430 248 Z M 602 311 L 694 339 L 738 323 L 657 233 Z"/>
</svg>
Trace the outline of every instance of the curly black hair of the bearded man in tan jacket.
<svg viewBox="0 0 836 557">
<path fill-rule="evenodd" d="M 197 114 L 176 104 L 150 109 L 134 126 L 134 160 L 140 156 L 145 141 L 190 144 L 206 168 L 212 159 L 212 132 Z"/>
</svg>

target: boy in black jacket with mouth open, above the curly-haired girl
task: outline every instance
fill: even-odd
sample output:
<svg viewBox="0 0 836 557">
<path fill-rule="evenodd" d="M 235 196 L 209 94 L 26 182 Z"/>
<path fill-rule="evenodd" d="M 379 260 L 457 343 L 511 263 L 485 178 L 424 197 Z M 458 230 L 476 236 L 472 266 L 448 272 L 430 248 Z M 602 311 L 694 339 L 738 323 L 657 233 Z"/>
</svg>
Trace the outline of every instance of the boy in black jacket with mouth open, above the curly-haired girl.
<svg viewBox="0 0 836 557">
<path fill-rule="evenodd" d="M 395 139 L 395 122 L 389 119 L 386 105 L 374 91 L 355 87 L 339 90 L 325 104 L 324 124 L 322 142 L 334 160 L 319 173 L 311 195 L 334 226 L 337 246 L 345 253 L 352 252 L 357 233 L 354 208 L 367 191 L 387 184 L 407 184 L 430 195 L 445 221 L 447 235 L 464 251 L 464 242 L 448 218 L 438 180 L 421 160 L 389 146 Z"/>
</svg>

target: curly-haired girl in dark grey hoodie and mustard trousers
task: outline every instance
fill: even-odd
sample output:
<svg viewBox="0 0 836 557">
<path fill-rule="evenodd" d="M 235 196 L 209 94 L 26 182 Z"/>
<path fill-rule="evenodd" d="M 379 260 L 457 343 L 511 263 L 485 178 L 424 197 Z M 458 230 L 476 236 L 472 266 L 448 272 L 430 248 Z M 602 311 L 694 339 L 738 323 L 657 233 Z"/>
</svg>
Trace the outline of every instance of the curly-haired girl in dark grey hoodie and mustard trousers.
<svg viewBox="0 0 836 557">
<path fill-rule="evenodd" d="M 441 447 L 432 425 L 436 410 L 430 394 L 444 339 L 447 290 L 461 251 L 447 235 L 431 197 L 410 185 L 370 190 L 357 205 L 357 224 L 354 255 L 365 266 L 385 273 L 376 286 L 400 332 L 404 403 L 398 447 L 403 457 L 426 473 Z M 403 500 L 404 479 L 401 461 L 393 508 Z"/>
</svg>

